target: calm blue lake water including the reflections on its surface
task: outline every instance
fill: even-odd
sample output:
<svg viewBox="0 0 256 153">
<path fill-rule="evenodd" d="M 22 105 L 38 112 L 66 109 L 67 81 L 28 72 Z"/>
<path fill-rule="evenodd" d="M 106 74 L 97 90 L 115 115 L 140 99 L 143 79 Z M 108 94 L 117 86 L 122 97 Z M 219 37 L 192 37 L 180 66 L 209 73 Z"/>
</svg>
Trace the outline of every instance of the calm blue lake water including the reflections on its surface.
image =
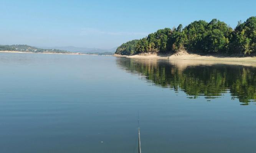
<svg viewBox="0 0 256 153">
<path fill-rule="evenodd" d="M 0 53 L 1 153 L 255 153 L 256 67 Z"/>
</svg>

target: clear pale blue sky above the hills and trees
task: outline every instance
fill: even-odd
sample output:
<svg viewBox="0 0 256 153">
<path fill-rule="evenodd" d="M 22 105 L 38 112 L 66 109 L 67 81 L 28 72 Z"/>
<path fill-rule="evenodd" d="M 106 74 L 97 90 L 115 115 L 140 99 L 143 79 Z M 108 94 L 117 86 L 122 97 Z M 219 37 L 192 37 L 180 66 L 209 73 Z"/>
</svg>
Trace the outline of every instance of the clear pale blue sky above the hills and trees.
<svg viewBox="0 0 256 153">
<path fill-rule="evenodd" d="M 110 49 L 161 28 L 217 18 L 232 28 L 255 0 L 0 0 L 0 44 Z"/>
</svg>

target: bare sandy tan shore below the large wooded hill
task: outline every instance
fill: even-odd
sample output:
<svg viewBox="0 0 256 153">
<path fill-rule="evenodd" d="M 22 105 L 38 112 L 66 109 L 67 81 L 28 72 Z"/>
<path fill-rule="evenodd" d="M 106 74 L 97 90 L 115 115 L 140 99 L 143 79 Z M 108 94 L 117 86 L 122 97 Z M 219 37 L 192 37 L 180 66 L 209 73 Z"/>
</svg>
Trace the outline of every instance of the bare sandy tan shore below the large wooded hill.
<svg viewBox="0 0 256 153">
<path fill-rule="evenodd" d="M 200 55 L 200 54 L 191 54 L 186 51 L 178 52 L 176 54 L 154 54 L 154 53 L 143 53 L 136 55 L 119 55 L 114 54 L 116 57 L 127 57 L 127 58 L 136 58 L 136 59 L 168 59 L 168 60 L 202 60 L 202 61 L 223 61 L 223 62 L 246 62 L 256 64 L 256 56 L 228 56 L 228 55 Z"/>
</svg>

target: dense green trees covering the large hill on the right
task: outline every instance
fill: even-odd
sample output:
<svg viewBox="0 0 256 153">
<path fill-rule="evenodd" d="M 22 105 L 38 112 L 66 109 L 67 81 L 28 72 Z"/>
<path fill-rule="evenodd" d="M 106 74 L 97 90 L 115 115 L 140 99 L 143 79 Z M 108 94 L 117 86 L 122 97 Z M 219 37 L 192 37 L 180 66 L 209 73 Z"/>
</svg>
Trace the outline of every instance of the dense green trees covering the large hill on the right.
<svg viewBox="0 0 256 153">
<path fill-rule="evenodd" d="M 244 23 L 238 22 L 235 29 L 213 19 L 209 23 L 194 21 L 185 28 L 160 29 L 140 40 L 119 46 L 116 54 L 132 55 L 143 52 L 176 52 L 185 49 L 200 53 L 251 54 L 256 52 L 256 16 Z"/>
</svg>

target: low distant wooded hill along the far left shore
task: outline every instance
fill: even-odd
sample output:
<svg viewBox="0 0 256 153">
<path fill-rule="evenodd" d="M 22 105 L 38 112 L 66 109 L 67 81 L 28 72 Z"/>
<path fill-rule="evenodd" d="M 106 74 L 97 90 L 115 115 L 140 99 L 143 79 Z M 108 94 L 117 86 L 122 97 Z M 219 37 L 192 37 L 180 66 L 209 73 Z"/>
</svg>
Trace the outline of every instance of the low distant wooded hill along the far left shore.
<svg viewBox="0 0 256 153">
<path fill-rule="evenodd" d="M 28 45 L 0 45 L 0 51 L 71 53 L 65 50 L 41 49 L 41 48 L 28 46 Z"/>
</svg>

